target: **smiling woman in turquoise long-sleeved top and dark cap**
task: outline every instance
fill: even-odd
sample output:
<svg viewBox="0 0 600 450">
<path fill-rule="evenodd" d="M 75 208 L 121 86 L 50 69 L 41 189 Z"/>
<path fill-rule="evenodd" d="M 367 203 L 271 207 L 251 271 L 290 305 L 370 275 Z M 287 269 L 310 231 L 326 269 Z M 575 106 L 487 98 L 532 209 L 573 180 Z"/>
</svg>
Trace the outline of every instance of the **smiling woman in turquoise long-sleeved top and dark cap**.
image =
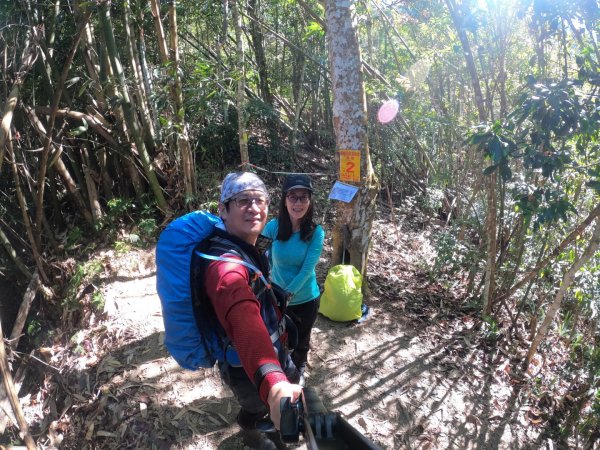
<svg viewBox="0 0 600 450">
<path fill-rule="evenodd" d="M 304 381 L 310 332 L 319 311 L 320 291 L 315 267 L 323 250 L 325 233 L 313 220 L 313 187 L 302 174 L 283 182 L 279 217 L 267 223 L 263 234 L 273 240 L 269 258 L 271 278 L 291 295 L 287 313 L 298 328 L 298 345 L 292 360 Z"/>
</svg>

